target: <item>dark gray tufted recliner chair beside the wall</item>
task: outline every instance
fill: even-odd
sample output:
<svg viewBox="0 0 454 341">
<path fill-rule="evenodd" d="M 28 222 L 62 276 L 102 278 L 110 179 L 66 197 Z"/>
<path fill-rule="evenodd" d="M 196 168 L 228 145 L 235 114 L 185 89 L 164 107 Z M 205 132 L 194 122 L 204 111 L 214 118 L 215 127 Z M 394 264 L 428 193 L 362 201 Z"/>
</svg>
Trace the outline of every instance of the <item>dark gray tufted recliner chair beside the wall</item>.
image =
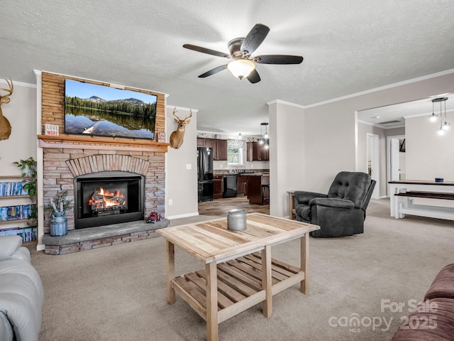
<svg viewBox="0 0 454 341">
<path fill-rule="evenodd" d="M 341 237 L 364 232 L 366 208 L 375 180 L 362 172 L 341 172 L 328 194 L 295 191 L 297 220 L 320 226 L 312 237 Z"/>
</svg>

